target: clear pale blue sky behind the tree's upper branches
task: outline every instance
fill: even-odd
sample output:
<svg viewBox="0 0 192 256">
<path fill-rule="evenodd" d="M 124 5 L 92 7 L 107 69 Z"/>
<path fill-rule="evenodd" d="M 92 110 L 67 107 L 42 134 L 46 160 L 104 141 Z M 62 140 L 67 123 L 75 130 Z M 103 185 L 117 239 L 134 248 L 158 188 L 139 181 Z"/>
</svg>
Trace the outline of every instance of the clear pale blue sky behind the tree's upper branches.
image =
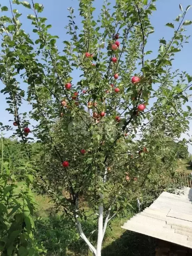
<svg viewBox="0 0 192 256">
<path fill-rule="evenodd" d="M 1 6 L 7 5 L 8 0 L 1 0 Z M 29 0 L 30 2 L 30 0 Z M 35 1 L 36 2 L 36 1 Z M 58 35 L 60 39 L 58 40 L 58 48 L 62 49 L 62 41 L 68 40 L 69 37 L 66 35 L 66 31 L 64 29 L 65 25 L 68 24 L 69 15 L 67 8 L 72 6 L 75 8 L 76 14 L 76 23 L 80 23 L 80 19 L 78 18 L 78 0 L 39 0 L 39 3 L 44 5 L 44 12 L 40 15 L 46 17 L 47 24 L 52 24 L 52 28 L 50 29 L 50 33 L 53 35 Z M 111 0 L 111 3 L 114 3 L 115 0 Z M 159 47 L 159 39 L 164 37 L 166 40 L 170 39 L 173 35 L 173 29 L 166 27 L 165 24 L 168 22 L 173 22 L 178 14 L 181 13 L 179 9 L 179 3 L 182 4 L 183 9 L 192 4 L 191 0 L 159 0 L 156 2 L 157 11 L 153 13 L 151 16 L 151 23 L 155 27 L 155 32 L 150 35 L 150 40 L 146 46 L 146 50 L 152 50 L 153 54 L 151 57 L 155 57 Z M 99 13 L 100 6 L 102 6 L 103 0 L 96 0 L 94 2 L 95 7 L 97 8 L 96 14 Z M 8 6 L 9 7 L 9 6 Z M 23 15 L 20 17 L 21 22 L 23 23 L 23 28 L 26 32 L 31 31 L 31 21 L 26 19 L 27 14 L 30 13 L 29 9 L 26 9 L 22 6 L 14 5 L 14 8 L 19 9 Z M 3 13 L 7 14 L 7 13 Z M 186 19 L 190 19 L 192 17 L 192 8 L 189 9 Z M 192 25 L 187 26 L 186 34 L 192 34 Z M 190 75 L 192 75 L 192 38 L 189 40 L 189 44 L 185 44 L 184 48 L 181 52 L 176 54 L 175 60 L 173 61 L 173 69 L 180 69 L 182 71 L 187 71 Z M 150 58 L 151 58 L 150 57 Z M 25 85 L 26 86 L 26 85 Z M 0 88 L 3 85 L 0 83 Z M 1 117 L 0 122 L 3 124 L 11 125 L 11 122 L 8 122 L 9 119 L 12 119 L 12 116 L 9 116 L 8 112 L 5 111 L 6 101 L 5 96 L 0 94 L 0 106 L 1 106 Z M 29 106 L 24 106 L 25 109 L 29 109 Z M 8 133 L 10 135 L 10 132 Z M 191 130 L 190 134 L 192 135 L 192 122 L 191 122 Z M 192 146 L 189 147 L 189 151 L 192 153 Z"/>
</svg>

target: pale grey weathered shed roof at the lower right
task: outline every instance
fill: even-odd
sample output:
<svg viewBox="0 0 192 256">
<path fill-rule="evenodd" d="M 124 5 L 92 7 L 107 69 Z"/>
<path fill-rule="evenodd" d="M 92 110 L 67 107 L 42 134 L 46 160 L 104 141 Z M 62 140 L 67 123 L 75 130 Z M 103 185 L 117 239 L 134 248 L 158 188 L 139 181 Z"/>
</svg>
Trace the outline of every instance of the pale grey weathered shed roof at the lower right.
<svg viewBox="0 0 192 256">
<path fill-rule="evenodd" d="M 122 228 L 192 248 L 192 189 L 184 194 L 163 192 Z"/>
</svg>

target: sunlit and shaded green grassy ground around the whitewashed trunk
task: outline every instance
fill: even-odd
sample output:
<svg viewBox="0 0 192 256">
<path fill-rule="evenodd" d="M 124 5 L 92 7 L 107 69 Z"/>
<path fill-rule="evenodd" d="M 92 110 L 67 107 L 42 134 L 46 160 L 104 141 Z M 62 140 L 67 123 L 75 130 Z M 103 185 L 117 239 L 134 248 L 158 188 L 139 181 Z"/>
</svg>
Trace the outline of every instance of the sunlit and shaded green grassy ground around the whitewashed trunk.
<svg viewBox="0 0 192 256">
<path fill-rule="evenodd" d="M 192 172 L 192 167 L 186 161 L 178 161 L 179 172 Z M 35 196 L 38 204 L 36 211 L 37 238 L 43 241 L 47 249 L 47 256 L 91 256 L 87 246 L 79 239 L 69 220 L 61 214 L 53 213 L 49 198 Z M 125 231 L 121 228 L 130 216 L 114 219 L 106 231 L 103 241 L 102 256 L 154 256 L 155 241 L 147 236 Z M 94 230 L 94 220 L 84 222 L 83 227 L 89 232 Z M 95 242 L 97 234 L 93 234 L 90 241 Z"/>
</svg>

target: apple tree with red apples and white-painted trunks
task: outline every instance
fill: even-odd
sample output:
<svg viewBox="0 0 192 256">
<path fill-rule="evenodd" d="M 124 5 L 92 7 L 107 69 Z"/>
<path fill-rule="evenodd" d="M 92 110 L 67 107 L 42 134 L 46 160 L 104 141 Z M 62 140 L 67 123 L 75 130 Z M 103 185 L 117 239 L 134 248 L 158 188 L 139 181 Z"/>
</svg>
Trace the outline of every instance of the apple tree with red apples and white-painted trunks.
<svg viewBox="0 0 192 256">
<path fill-rule="evenodd" d="M 181 14 L 166 24 L 172 36 L 160 39 L 156 58 L 150 58 L 146 45 L 154 32 L 154 2 L 116 0 L 113 6 L 104 0 L 96 18 L 95 1 L 79 0 L 81 23 L 70 7 L 63 49 L 56 46 L 59 37 L 49 33 L 42 4 L 13 0 L 1 7 L 3 14 L 9 12 L 0 17 L 1 93 L 13 116 L 2 129 L 15 128 L 13 136 L 32 162 L 31 144 L 34 139 L 41 144 L 41 158 L 33 162 L 36 189 L 46 191 L 73 220 L 95 256 L 101 255 L 109 221 L 126 214 L 145 186 L 174 169 L 169 141 L 189 129 L 191 107 L 183 106 L 192 77 L 171 65 L 189 39 L 190 6 L 183 11 L 180 5 Z M 20 5 L 28 10 L 30 34 L 22 28 Z M 26 103 L 28 112 L 22 109 Z M 82 225 L 92 216 L 97 243 Z"/>
</svg>

